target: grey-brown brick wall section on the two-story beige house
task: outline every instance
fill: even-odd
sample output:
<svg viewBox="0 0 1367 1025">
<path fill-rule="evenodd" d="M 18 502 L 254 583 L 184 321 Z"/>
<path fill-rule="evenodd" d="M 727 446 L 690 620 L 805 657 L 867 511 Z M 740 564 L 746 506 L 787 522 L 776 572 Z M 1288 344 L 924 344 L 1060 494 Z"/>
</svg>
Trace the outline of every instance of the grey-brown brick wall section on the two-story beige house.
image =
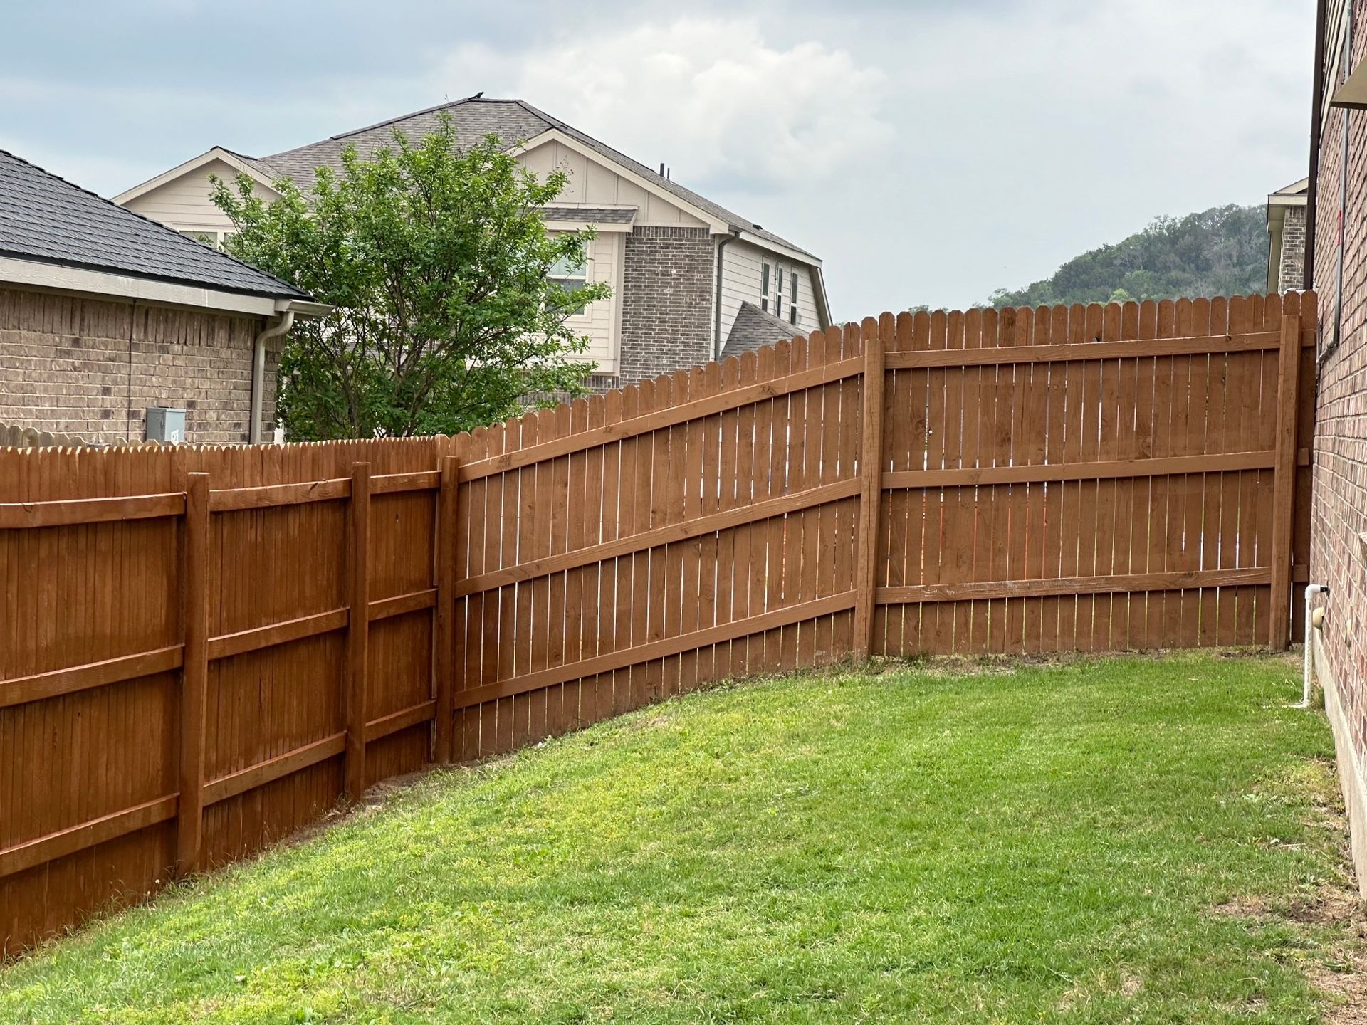
<svg viewBox="0 0 1367 1025">
<path fill-rule="evenodd" d="M 712 358 L 715 258 L 707 228 L 638 227 L 627 235 L 619 384 Z"/>
</svg>

